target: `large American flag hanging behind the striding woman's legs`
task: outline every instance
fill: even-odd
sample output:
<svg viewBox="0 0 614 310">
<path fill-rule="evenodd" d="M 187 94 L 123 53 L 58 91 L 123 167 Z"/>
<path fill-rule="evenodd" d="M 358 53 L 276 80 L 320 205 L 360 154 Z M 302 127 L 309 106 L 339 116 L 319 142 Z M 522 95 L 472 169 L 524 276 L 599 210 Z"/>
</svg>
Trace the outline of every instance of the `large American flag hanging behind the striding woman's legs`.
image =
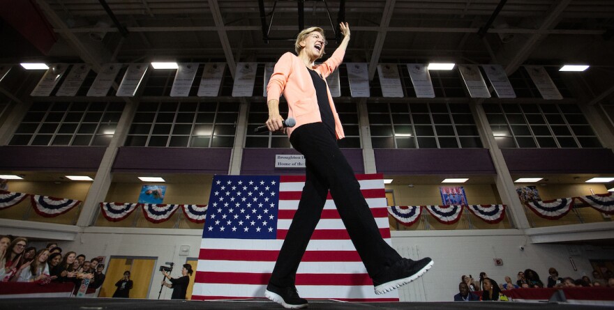
<svg viewBox="0 0 614 310">
<path fill-rule="evenodd" d="M 357 175 L 384 240 L 390 229 L 381 174 Z M 211 186 L 193 300 L 264 297 L 279 249 L 296 212 L 305 176 L 216 176 Z M 398 301 L 375 295 L 329 194 L 296 279 L 301 297 Z"/>
</svg>

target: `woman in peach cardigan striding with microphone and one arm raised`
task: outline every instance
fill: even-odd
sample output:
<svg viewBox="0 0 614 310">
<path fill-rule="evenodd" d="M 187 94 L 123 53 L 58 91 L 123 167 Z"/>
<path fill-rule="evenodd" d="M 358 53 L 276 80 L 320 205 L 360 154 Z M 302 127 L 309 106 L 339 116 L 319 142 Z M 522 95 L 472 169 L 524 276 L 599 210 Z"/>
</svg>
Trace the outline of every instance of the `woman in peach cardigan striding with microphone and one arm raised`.
<svg viewBox="0 0 614 310">
<path fill-rule="evenodd" d="M 337 146 L 336 139 L 345 135 L 326 77 L 343 61 L 350 42 L 350 26 L 341 23 L 340 30 L 343 40 L 320 65 L 314 62 L 324 55 L 327 45 L 324 30 L 311 27 L 301 31 L 294 45 L 298 56 L 290 52 L 283 54 L 267 86 L 269 131 L 283 129 L 279 114 L 279 98 L 283 93 L 288 117 L 297 122 L 295 127 L 287 128 L 290 143 L 306 161 L 306 181 L 299 208 L 264 292 L 267 298 L 287 309 L 307 307 L 307 300 L 299 297 L 294 280 L 329 190 L 352 243 L 373 279 L 376 294 L 410 283 L 433 266 L 430 258 L 419 261 L 402 258 L 384 241 L 354 171 Z"/>
</svg>

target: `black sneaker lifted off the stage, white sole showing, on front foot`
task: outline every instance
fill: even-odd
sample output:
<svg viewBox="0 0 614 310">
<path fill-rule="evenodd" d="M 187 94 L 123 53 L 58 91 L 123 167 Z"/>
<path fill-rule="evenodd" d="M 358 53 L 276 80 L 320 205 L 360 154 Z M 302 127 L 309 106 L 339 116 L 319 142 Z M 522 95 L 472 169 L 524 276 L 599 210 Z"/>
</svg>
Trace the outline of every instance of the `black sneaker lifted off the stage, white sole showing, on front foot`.
<svg viewBox="0 0 614 310">
<path fill-rule="evenodd" d="M 408 284 L 421 277 L 431 267 L 433 267 L 433 260 L 428 257 L 422 258 L 419 261 L 402 258 L 373 279 L 375 294 L 388 293 L 391 290 Z"/>
</svg>

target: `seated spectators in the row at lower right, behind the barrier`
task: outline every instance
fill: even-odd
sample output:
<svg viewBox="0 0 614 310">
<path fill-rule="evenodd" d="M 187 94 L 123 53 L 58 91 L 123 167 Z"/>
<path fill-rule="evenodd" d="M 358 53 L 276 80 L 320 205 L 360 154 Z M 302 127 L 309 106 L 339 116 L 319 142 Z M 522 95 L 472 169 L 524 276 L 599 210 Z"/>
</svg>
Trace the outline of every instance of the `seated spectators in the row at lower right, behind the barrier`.
<svg viewBox="0 0 614 310">
<path fill-rule="evenodd" d="M 519 271 L 516 282 L 511 277 L 504 277 L 504 283 L 497 284 L 497 281 L 488 277 L 486 272 L 480 272 L 479 278 L 475 280 L 472 275 L 461 276 L 461 283 L 458 284 L 458 294 L 454 295 L 454 301 L 479 301 L 495 300 L 507 301 L 508 298 L 502 293 L 503 290 L 514 290 L 517 288 L 573 288 L 573 287 L 592 287 L 605 286 L 614 288 L 614 274 L 611 270 L 601 273 L 599 270 L 592 272 L 593 279 L 583 276 L 580 279 L 571 277 L 559 277 L 559 272 L 555 268 L 548 269 L 548 279 L 539 279 L 539 274 L 534 270 L 527 269 Z"/>
</svg>

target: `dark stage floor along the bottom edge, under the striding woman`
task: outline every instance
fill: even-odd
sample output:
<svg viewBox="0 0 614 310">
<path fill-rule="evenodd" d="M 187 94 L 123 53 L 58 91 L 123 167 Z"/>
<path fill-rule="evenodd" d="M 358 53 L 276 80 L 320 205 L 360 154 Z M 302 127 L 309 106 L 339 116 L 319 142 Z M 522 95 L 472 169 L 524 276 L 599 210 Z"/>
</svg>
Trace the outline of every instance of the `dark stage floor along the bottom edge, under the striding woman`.
<svg viewBox="0 0 614 310">
<path fill-rule="evenodd" d="M 181 300 L 130 300 L 114 298 L 14 298 L 0 301 L 0 309 L 45 309 L 45 310 L 103 310 L 103 309 L 198 309 L 198 310 L 235 310 L 235 309 L 283 309 L 280 305 L 265 299 L 229 301 L 181 301 Z M 586 304 L 564 304 L 548 302 L 337 302 L 334 300 L 310 300 L 308 309 L 347 309 L 347 310 L 580 310 L 612 309 L 612 307 L 591 306 Z"/>
</svg>

